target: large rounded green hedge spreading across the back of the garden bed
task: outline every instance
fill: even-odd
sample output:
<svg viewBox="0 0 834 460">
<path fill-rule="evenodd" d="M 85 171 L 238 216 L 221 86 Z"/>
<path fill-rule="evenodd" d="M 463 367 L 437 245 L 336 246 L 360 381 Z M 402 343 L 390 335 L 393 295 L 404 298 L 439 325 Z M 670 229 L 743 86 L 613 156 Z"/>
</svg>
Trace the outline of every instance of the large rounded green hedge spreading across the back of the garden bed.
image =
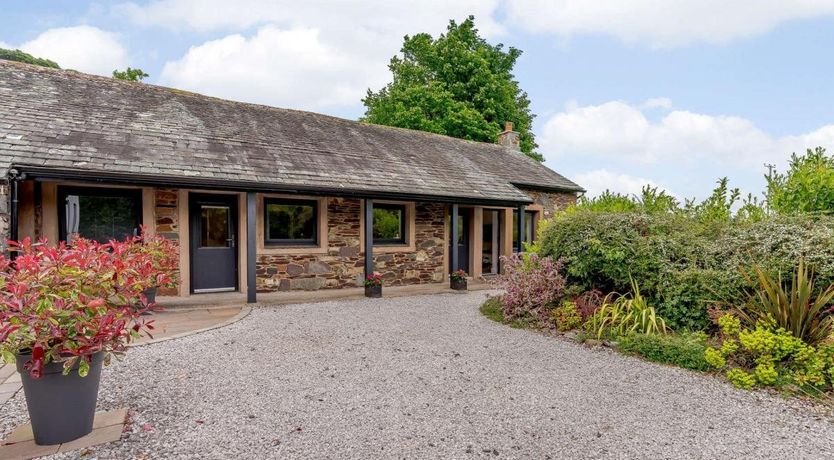
<svg viewBox="0 0 834 460">
<path fill-rule="evenodd" d="M 719 215 L 723 208 L 709 209 Z M 707 307 L 744 299 L 739 267 L 788 273 L 805 255 L 818 289 L 834 283 L 834 218 L 826 216 L 704 221 L 683 213 L 574 211 L 549 223 L 539 248 L 562 260 L 570 289 L 624 292 L 631 278 L 639 281 L 676 330 L 708 330 Z"/>
</svg>

